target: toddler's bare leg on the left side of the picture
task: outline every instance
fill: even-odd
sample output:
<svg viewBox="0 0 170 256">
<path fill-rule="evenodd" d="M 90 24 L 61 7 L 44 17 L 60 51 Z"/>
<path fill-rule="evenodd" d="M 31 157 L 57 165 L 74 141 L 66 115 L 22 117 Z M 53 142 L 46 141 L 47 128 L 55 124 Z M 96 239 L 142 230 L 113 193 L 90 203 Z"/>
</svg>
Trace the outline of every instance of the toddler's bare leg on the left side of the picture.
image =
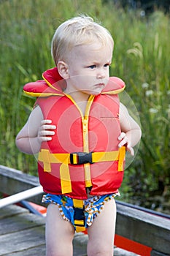
<svg viewBox="0 0 170 256">
<path fill-rule="evenodd" d="M 72 256 L 74 227 L 61 217 L 58 206 L 50 204 L 46 219 L 46 256 Z"/>
</svg>

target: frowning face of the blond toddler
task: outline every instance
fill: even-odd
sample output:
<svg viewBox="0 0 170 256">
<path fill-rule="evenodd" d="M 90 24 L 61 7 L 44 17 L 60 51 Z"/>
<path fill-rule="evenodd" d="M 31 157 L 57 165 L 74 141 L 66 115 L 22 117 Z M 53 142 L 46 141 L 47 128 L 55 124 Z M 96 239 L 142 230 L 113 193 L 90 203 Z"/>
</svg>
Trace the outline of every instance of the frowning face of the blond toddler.
<svg viewBox="0 0 170 256">
<path fill-rule="evenodd" d="M 98 95 L 109 80 L 109 65 L 112 61 L 112 44 L 103 46 L 99 42 L 79 45 L 72 49 L 67 58 L 69 79 L 66 93 Z M 88 94 L 88 95 L 87 95 Z"/>
</svg>

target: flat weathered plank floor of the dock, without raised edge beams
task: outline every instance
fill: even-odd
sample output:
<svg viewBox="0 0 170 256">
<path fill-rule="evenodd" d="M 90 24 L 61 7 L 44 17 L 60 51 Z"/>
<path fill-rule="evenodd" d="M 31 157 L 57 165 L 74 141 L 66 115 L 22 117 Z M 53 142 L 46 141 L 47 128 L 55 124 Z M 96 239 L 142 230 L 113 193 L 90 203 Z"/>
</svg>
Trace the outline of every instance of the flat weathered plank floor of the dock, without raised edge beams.
<svg viewBox="0 0 170 256">
<path fill-rule="evenodd" d="M 88 235 L 74 236 L 74 256 L 86 256 Z M 45 256 L 45 217 L 31 214 L 20 206 L 7 206 L 0 211 L 1 256 Z M 115 256 L 135 256 L 115 248 Z"/>
</svg>

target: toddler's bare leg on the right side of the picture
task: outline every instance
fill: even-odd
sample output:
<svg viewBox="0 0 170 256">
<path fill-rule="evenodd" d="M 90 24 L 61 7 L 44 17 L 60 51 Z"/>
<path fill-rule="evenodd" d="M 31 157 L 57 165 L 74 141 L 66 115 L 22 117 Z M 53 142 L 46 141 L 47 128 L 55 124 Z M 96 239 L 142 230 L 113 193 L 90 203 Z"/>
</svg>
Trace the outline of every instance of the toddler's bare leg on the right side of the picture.
<svg viewBox="0 0 170 256">
<path fill-rule="evenodd" d="M 112 256 L 115 237 L 116 205 L 109 200 L 101 214 L 88 227 L 88 256 Z"/>
</svg>

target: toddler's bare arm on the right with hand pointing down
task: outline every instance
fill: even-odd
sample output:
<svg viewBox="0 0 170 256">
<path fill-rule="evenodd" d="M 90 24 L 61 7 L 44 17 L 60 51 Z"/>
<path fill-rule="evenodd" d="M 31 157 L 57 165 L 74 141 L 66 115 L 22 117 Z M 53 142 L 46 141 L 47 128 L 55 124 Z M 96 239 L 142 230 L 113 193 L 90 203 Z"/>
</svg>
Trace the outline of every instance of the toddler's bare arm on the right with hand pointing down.
<svg viewBox="0 0 170 256">
<path fill-rule="evenodd" d="M 139 142 L 142 132 L 139 125 L 129 115 L 127 108 L 120 103 L 120 127 L 121 134 L 119 136 L 119 147 L 126 144 L 127 150 L 134 155 L 133 147 Z"/>
</svg>

